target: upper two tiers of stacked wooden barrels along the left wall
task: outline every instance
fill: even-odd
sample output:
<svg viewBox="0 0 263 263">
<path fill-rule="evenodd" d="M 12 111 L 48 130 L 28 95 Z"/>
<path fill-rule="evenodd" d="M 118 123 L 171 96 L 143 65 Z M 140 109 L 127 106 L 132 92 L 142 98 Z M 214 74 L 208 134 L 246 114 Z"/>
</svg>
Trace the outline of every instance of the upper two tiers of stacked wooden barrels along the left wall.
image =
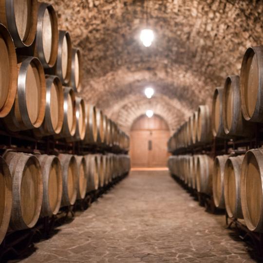
<svg viewBox="0 0 263 263">
<path fill-rule="evenodd" d="M 129 149 L 129 137 L 81 91 L 80 50 L 37 0 L 0 0 L 1 129 Z"/>
</svg>

